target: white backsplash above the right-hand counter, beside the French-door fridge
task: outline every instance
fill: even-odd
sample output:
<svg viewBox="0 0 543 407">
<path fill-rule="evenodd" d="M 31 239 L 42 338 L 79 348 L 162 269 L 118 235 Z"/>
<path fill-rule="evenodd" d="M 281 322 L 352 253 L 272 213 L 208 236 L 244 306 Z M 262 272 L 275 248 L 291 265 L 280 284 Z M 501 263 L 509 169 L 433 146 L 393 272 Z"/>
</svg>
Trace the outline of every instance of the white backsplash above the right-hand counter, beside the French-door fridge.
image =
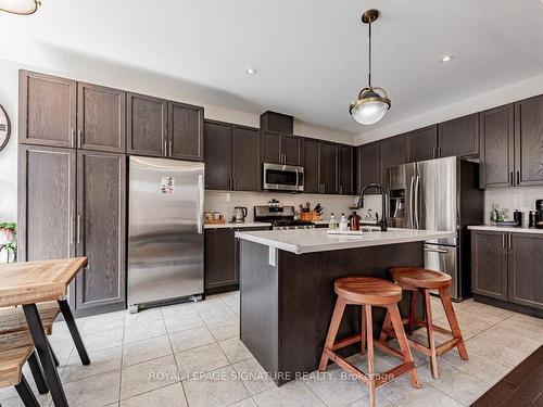
<svg viewBox="0 0 543 407">
<path fill-rule="evenodd" d="M 496 203 L 498 208 L 508 208 L 513 217 L 515 209 L 523 213 L 523 226 L 528 226 L 528 211 L 535 208 L 535 200 L 543 200 L 543 187 L 515 187 L 487 189 L 484 191 L 484 219 L 490 222 L 490 211 L 492 204 Z"/>
</svg>

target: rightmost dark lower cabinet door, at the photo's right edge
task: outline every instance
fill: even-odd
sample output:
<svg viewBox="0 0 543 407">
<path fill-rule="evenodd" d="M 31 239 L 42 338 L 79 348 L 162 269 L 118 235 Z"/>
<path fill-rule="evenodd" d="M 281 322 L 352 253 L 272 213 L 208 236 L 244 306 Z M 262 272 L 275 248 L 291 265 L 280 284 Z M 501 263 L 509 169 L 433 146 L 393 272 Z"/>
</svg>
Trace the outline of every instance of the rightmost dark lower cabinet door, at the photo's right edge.
<svg viewBox="0 0 543 407">
<path fill-rule="evenodd" d="M 543 309 L 543 234 L 509 233 L 508 300 Z"/>
</svg>

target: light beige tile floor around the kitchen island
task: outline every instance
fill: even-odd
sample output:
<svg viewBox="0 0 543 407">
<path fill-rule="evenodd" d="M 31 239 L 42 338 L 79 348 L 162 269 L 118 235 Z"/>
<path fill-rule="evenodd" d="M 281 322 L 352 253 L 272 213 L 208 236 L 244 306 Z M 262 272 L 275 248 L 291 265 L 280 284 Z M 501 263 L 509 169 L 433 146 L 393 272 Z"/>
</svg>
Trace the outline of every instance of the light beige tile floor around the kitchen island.
<svg viewBox="0 0 543 407">
<path fill-rule="evenodd" d="M 437 323 L 446 326 L 441 304 L 435 298 L 432 303 Z M 239 307 L 239 292 L 233 292 L 136 315 L 121 311 L 78 319 L 92 361 L 87 367 L 80 365 L 65 325 L 56 322 L 51 343 L 68 402 L 77 407 L 368 404 L 366 387 L 342 379 L 337 365 L 328 368 L 329 374 L 276 387 L 238 340 Z M 428 359 L 414 352 L 422 387 L 413 389 L 407 378 L 400 378 L 378 390 L 378 406 L 468 406 L 543 344 L 542 319 L 472 301 L 455 308 L 470 359 L 460 360 L 455 351 L 445 354 L 439 360 L 440 379 L 433 380 Z M 378 369 L 397 364 L 376 353 Z M 351 360 L 365 366 L 359 355 Z M 26 376 L 30 378 L 28 371 Z M 42 406 L 51 405 L 48 395 L 39 399 Z M 0 390 L 0 403 L 22 406 L 12 389 Z"/>
</svg>

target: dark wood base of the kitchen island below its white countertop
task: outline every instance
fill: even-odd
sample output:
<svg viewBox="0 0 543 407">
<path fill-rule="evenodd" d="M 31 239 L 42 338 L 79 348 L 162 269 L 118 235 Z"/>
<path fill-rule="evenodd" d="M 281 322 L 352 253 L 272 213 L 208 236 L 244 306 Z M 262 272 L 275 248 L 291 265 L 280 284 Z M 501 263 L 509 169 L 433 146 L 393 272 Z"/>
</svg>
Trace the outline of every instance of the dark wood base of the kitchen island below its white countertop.
<svg viewBox="0 0 543 407">
<path fill-rule="evenodd" d="M 277 385 L 318 368 L 336 304 L 333 281 L 345 276 L 391 280 L 391 267 L 422 267 L 422 242 L 293 254 L 241 240 L 241 340 Z M 421 318 L 421 301 L 416 315 Z M 408 315 L 409 295 L 399 303 Z M 359 307 L 348 306 L 338 339 L 359 332 Z M 374 336 L 379 338 L 386 309 L 374 309 Z M 359 344 L 345 347 L 346 357 Z"/>
</svg>

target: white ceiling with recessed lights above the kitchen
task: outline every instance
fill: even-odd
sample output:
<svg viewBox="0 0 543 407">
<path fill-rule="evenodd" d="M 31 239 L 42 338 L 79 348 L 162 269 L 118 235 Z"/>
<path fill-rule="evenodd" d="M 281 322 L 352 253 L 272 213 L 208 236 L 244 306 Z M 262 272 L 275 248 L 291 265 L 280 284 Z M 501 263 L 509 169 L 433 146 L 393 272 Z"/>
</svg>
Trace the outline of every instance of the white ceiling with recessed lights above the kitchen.
<svg viewBox="0 0 543 407">
<path fill-rule="evenodd" d="M 162 78 L 191 99 L 274 110 L 353 135 L 543 73 L 536 0 L 43 0 L 31 16 L 0 13 L 0 59 Z M 392 109 L 374 126 L 349 115 L 366 85 L 367 27 L 378 8 L 374 85 Z M 455 54 L 450 64 L 443 54 Z M 68 64 L 70 62 L 70 64 Z M 257 75 L 248 76 L 247 67 Z M 187 93 L 187 94 L 188 94 Z"/>
</svg>

